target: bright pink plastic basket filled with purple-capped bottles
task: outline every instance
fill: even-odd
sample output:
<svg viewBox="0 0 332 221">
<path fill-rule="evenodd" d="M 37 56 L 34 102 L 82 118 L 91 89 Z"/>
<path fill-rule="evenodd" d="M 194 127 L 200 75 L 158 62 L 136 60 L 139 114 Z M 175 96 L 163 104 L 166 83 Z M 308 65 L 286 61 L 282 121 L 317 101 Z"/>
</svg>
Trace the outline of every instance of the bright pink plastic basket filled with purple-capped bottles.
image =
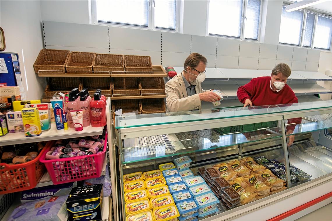
<svg viewBox="0 0 332 221">
<path fill-rule="evenodd" d="M 54 141 L 48 146 L 40 159 L 45 164 L 53 184 L 57 185 L 101 176 L 106 154 L 107 133 L 105 135 L 104 150 L 101 153 L 86 156 L 46 160 L 46 153 L 53 143 Z"/>
</svg>

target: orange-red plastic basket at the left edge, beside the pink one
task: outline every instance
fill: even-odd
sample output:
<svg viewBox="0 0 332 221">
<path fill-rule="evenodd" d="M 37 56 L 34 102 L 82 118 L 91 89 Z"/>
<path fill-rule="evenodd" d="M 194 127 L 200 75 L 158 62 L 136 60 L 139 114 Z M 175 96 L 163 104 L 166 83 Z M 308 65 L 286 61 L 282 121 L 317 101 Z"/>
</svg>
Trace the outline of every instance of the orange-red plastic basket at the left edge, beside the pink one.
<svg viewBox="0 0 332 221">
<path fill-rule="evenodd" d="M 46 149 L 47 148 L 45 146 L 35 159 L 27 163 L 17 165 L 1 163 L 1 194 L 14 193 L 35 188 L 45 172 L 45 166 L 40 162 L 40 158 L 41 155 L 46 153 Z"/>
</svg>

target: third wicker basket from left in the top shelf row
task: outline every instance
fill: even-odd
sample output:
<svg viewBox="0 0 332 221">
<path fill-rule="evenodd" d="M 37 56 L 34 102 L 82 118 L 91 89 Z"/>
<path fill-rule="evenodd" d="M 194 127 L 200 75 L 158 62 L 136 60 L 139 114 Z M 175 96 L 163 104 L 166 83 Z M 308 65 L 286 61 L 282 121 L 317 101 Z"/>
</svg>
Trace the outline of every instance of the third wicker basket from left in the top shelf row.
<svg viewBox="0 0 332 221">
<path fill-rule="evenodd" d="M 120 54 L 96 54 L 94 74 L 124 74 L 124 56 Z"/>
</svg>

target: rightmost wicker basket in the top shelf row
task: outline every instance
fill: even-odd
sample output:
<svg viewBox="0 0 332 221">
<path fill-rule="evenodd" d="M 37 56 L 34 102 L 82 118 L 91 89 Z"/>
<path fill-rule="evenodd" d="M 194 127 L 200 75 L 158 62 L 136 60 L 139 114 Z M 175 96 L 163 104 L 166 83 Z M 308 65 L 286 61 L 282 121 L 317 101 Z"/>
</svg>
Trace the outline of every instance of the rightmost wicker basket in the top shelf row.
<svg viewBox="0 0 332 221">
<path fill-rule="evenodd" d="M 126 74 L 152 74 L 151 57 L 124 55 L 124 68 Z"/>
</svg>

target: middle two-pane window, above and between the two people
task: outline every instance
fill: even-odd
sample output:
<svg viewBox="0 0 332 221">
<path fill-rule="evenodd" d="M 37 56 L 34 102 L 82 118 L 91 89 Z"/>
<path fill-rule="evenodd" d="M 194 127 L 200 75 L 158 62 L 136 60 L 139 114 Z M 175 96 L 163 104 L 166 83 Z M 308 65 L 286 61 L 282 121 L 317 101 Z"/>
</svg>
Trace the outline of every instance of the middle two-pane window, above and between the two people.
<svg viewBox="0 0 332 221">
<path fill-rule="evenodd" d="M 211 0 L 208 12 L 208 33 L 258 40 L 260 0 Z"/>
</svg>

